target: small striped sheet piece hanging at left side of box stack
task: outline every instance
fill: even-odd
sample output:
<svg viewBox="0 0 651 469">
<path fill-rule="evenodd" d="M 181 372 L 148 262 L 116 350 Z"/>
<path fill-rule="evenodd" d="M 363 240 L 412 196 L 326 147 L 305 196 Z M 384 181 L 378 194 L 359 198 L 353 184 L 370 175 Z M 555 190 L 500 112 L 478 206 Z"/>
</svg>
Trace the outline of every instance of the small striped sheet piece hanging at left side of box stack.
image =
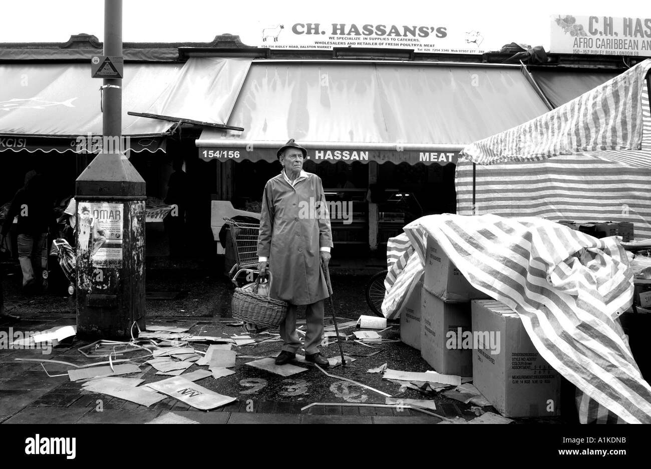
<svg viewBox="0 0 651 469">
<path fill-rule="evenodd" d="M 402 305 L 422 277 L 423 264 L 419 256 L 412 256 L 414 248 L 406 234 L 387 241 L 387 268 L 384 280 L 385 298 L 382 314 L 387 319 L 398 319 Z"/>
</svg>

